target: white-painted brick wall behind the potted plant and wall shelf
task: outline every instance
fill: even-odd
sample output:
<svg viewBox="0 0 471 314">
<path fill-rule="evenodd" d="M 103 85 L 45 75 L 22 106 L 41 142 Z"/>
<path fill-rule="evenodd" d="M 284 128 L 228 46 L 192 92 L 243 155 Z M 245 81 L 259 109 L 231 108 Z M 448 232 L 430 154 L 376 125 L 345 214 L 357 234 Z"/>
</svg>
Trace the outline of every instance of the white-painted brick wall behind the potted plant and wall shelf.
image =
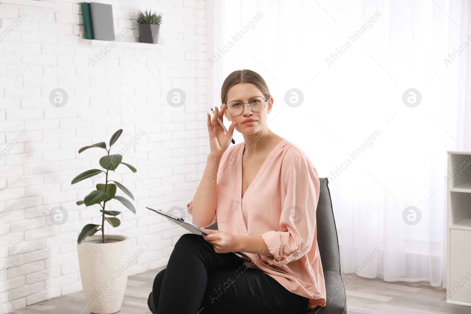
<svg viewBox="0 0 471 314">
<path fill-rule="evenodd" d="M 115 34 L 152 5 L 162 13 L 162 44 L 138 43 L 138 31 L 132 31 L 95 66 L 90 58 L 110 42 L 81 39 L 78 2 L 0 1 L 0 34 L 6 35 L 0 37 L 0 314 L 82 289 L 77 233 L 86 224 L 100 224 L 101 216 L 98 205 L 79 207 L 75 201 L 104 178 L 70 182 L 99 168 L 106 152 L 79 154 L 79 148 L 108 143 L 123 129 L 111 153 L 124 148 L 123 161 L 138 172 L 120 166 L 109 176 L 134 194 L 137 214 L 109 202 L 106 209 L 122 211 L 122 223 L 106 225 L 106 233 L 128 235 L 131 255 L 146 250 L 130 275 L 164 266 L 185 231 L 145 207 L 185 208 L 203 174 L 205 1 L 100 0 L 113 5 Z M 27 17 L 11 31 L 22 13 Z M 56 88 L 68 94 L 64 107 L 49 103 Z M 173 88 L 187 96 L 179 108 L 167 104 Z M 145 135 L 136 144 L 139 130 Z M 55 206 L 68 212 L 64 225 L 49 220 Z"/>
</svg>

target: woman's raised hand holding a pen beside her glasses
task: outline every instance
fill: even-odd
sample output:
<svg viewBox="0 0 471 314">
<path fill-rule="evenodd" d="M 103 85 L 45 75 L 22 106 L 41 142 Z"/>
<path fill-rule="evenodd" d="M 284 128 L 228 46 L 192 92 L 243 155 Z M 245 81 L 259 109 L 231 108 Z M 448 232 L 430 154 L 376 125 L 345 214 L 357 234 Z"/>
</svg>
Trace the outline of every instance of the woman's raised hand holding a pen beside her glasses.
<svg viewBox="0 0 471 314">
<path fill-rule="evenodd" d="M 211 152 L 210 154 L 215 156 L 222 156 L 222 154 L 226 151 L 227 147 L 229 147 L 232 141 L 232 134 L 234 132 L 235 124 L 237 122 L 231 123 L 229 129 L 227 129 L 227 135 L 224 133 L 224 129 L 219 124 L 218 117 L 221 122 L 224 123 L 224 111 L 226 110 L 226 104 L 221 106 L 221 111 L 219 111 L 218 107 L 215 106 L 215 114 L 210 119 L 210 114 L 208 113 L 208 131 L 209 131 L 209 143 Z"/>
</svg>

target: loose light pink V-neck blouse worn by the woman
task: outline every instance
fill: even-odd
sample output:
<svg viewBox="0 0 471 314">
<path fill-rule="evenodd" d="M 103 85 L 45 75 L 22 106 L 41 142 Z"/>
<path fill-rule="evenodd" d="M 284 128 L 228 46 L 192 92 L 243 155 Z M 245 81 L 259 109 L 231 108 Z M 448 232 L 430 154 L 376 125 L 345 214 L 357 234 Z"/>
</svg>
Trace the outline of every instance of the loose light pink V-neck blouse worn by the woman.
<svg viewBox="0 0 471 314">
<path fill-rule="evenodd" d="M 245 262 L 246 266 L 259 268 L 287 290 L 309 298 L 307 310 L 325 306 L 324 272 L 317 246 L 317 170 L 298 146 L 283 139 L 268 154 L 241 198 L 244 149 L 243 141 L 229 146 L 222 155 L 216 212 L 209 225 L 218 222 L 218 229 L 228 233 L 261 235 L 273 256 L 244 252 L 253 261 Z M 187 204 L 188 214 L 192 209 L 193 199 Z"/>
</svg>

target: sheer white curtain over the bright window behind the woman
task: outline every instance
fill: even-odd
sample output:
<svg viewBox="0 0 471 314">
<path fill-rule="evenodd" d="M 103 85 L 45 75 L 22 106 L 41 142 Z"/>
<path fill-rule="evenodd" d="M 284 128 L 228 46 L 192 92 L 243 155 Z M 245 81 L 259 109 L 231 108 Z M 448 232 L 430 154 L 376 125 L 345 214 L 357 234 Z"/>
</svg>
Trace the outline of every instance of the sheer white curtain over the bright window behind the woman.
<svg viewBox="0 0 471 314">
<path fill-rule="evenodd" d="M 209 101 L 234 70 L 264 77 L 268 127 L 329 178 L 342 272 L 445 287 L 447 150 L 471 150 L 467 1 L 206 3 Z"/>
</svg>

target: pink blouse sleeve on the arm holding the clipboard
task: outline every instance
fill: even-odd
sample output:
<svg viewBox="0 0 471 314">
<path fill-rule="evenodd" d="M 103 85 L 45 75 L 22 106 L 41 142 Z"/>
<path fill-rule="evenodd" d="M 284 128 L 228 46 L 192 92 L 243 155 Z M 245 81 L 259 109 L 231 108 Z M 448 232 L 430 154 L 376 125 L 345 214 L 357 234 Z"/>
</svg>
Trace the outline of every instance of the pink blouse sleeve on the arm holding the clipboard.
<svg viewBox="0 0 471 314">
<path fill-rule="evenodd" d="M 304 156 L 293 159 L 282 187 L 280 230 L 260 234 L 273 254 L 265 256 L 269 264 L 283 266 L 311 249 L 316 231 L 319 188 L 319 177 L 312 164 Z"/>
</svg>

